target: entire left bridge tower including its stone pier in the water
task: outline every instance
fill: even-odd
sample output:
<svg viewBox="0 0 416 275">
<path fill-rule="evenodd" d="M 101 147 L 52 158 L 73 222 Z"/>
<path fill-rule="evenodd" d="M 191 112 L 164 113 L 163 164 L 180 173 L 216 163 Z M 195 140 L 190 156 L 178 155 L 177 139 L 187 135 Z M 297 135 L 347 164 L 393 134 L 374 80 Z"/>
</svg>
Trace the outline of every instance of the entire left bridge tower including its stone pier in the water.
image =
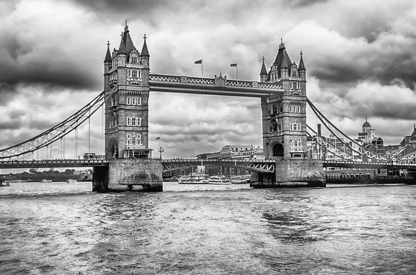
<svg viewBox="0 0 416 275">
<path fill-rule="evenodd" d="M 127 20 L 119 49 L 111 53 L 107 43 L 104 59 L 106 171 L 97 175 L 94 190 L 162 191 L 162 160 L 151 158 L 148 148 L 148 99 L 150 54 L 144 35 L 139 52 L 133 44 Z"/>
</svg>

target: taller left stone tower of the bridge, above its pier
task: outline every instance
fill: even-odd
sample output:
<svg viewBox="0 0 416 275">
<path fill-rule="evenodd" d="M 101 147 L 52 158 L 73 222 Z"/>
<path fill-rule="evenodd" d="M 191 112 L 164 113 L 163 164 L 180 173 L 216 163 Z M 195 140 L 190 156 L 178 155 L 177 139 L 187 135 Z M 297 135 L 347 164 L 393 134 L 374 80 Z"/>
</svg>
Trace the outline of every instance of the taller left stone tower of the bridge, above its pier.
<svg viewBox="0 0 416 275">
<path fill-rule="evenodd" d="M 146 35 L 137 51 L 127 20 L 119 49 L 104 60 L 104 90 L 112 92 L 105 101 L 105 158 L 148 158 L 149 52 Z"/>
</svg>

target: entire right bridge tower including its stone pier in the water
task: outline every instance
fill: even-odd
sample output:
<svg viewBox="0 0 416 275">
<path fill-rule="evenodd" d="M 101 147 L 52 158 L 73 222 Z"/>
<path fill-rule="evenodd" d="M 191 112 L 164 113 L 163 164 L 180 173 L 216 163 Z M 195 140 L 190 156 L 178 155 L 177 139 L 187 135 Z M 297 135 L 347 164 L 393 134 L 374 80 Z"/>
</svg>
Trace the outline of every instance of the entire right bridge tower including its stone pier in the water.
<svg viewBox="0 0 416 275">
<path fill-rule="evenodd" d="M 322 160 L 307 158 L 306 152 L 306 68 L 302 51 L 297 65 L 281 41 L 268 72 L 263 58 L 260 81 L 280 84 L 284 92 L 261 98 L 263 152 L 266 160 L 276 160 L 276 173 L 275 178 L 259 175 L 257 187 L 324 186 Z"/>
</svg>

